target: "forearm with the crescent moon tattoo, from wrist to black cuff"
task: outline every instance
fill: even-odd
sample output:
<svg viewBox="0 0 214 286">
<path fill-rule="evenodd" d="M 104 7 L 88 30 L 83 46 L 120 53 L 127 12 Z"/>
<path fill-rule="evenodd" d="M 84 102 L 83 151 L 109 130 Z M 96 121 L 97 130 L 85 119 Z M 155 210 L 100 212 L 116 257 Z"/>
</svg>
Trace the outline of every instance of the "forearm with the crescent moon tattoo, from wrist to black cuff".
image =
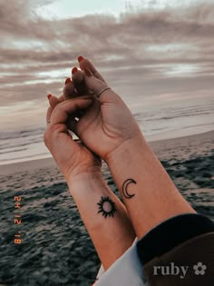
<svg viewBox="0 0 214 286">
<path fill-rule="evenodd" d="M 195 212 L 143 136 L 123 143 L 107 163 L 139 238 L 174 215 Z"/>
</svg>

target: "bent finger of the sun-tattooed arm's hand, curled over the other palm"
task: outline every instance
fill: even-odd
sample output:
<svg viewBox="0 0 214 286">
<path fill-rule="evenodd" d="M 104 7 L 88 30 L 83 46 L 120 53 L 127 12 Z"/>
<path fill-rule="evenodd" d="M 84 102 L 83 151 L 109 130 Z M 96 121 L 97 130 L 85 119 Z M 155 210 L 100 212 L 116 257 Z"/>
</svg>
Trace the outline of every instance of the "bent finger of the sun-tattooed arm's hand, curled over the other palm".
<svg viewBox="0 0 214 286">
<path fill-rule="evenodd" d="M 51 115 L 51 124 L 66 123 L 69 115 L 76 113 L 78 110 L 85 110 L 92 104 L 89 96 L 78 97 L 75 99 L 65 100 L 55 106 Z"/>
</svg>

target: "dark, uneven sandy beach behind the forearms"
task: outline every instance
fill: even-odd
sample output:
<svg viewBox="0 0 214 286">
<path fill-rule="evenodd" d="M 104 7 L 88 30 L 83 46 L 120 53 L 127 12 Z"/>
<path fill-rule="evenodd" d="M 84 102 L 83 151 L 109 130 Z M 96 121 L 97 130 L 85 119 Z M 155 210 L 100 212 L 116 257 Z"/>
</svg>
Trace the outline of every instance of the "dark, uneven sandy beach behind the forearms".
<svg viewBox="0 0 214 286">
<path fill-rule="evenodd" d="M 184 197 L 214 220 L 214 131 L 150 144 Z M 105 164 L 102 172 L 118 193 Z M 100 261 L 53 159 L 1 165 L 0 192 L 0 283 L 91 285 Z"/>
</svg>

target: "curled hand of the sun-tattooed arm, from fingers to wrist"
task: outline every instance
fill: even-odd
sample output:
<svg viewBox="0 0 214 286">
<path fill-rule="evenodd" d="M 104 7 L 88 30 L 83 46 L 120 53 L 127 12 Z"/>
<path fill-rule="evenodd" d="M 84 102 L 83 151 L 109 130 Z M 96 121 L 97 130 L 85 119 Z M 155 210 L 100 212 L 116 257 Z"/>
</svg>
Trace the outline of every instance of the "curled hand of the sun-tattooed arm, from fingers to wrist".
<svg viewBox="0 0 214 286">
<path fill-rule="evenodd" d="M 101 161 L 92 154 L 83 143 L 73 141 L 69 128 L 73 129 L 76 121 L 73 114 L 87 110 L 92 104 L 89 96 L 72 98 L 63 102 L 55 96 L 49 99 L 51 107 L 47 111 L 47 128 L 44 132 L 44 143 L 52 153 L 61 169 L 65 180 L 84 174 L 101 174 Z M 67 121 L 69 118 L 69 124 Z"/>
</svg>

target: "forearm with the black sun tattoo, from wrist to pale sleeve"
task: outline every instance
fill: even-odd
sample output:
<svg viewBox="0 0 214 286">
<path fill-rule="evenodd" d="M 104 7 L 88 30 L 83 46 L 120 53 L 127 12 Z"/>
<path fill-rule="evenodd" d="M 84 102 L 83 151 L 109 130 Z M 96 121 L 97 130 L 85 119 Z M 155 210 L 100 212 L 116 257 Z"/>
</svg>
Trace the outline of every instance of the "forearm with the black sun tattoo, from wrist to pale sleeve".
<svg viewBox="0 0 214 286">
<path fill-rule="evenodd" d="M 71 177 L 67 182 L 106 270 L 122 256 L 135 238 L 127 211 L 100 174 Z"/>
</svg>

